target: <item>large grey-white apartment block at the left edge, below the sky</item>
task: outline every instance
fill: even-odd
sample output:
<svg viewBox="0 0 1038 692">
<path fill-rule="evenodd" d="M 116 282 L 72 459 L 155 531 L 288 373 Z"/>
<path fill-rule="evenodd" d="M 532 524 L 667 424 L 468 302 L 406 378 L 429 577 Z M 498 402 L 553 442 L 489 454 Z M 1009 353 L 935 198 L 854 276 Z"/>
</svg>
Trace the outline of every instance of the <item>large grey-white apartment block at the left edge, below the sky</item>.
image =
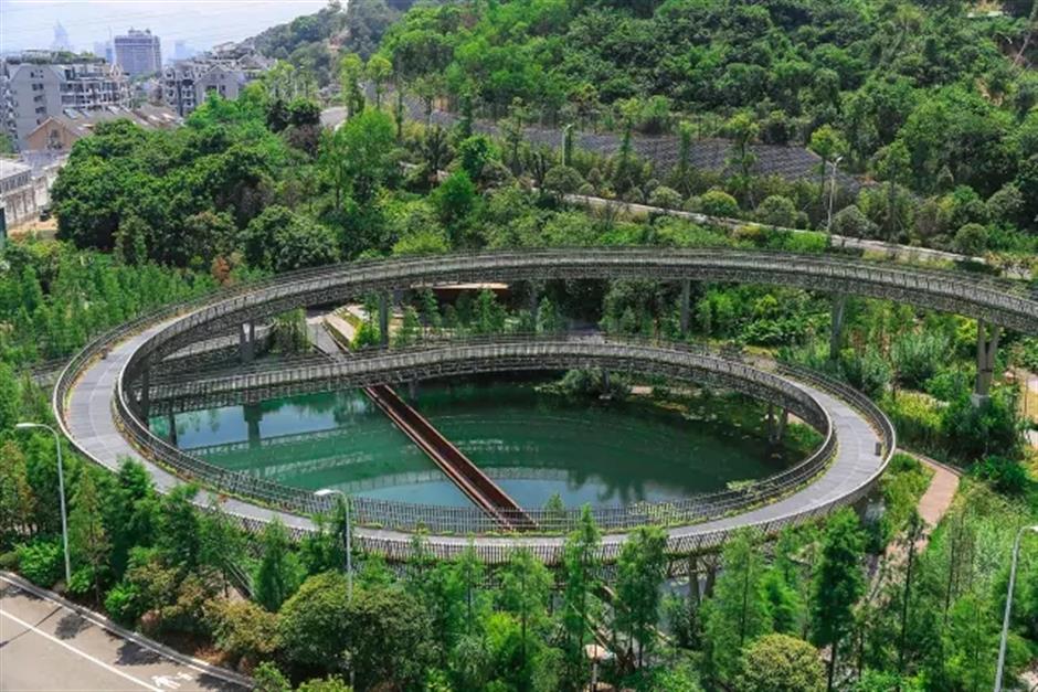
<svg viewBox="0 0 1038 692">
<path fill-rule="evenodd" d="M 129 106 L 129 82 L 103 61 L 46 63 L 38 55 L 0 61 L 0 125 L 20 148 L 50 116 Z"/>
</svg>

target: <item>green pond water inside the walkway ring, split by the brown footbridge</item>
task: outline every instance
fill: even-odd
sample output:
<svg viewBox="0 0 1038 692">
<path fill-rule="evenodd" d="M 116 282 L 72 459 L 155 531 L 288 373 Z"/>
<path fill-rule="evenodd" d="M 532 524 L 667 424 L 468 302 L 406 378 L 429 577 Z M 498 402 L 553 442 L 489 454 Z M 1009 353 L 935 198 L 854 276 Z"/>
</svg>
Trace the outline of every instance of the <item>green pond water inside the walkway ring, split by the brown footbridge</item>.
<svg viewBox="0 0 1038 692">
<path fill-rule="evenodd" d="M 766 444 L 744 400 L 710 401 L 687 416 L 642 402 L 542 393 L 529 381 L 479 380 L 423 383 L 414 405 L 517 502 L 539 508 L 553 493 L 576 507 L 721 490 L 796 456 Z M 719 412 L 720 419 L 703 419 Z M 166 426 L 152 420 L 158 434 Z M 299 488 L 469 504 L 357 390 L 179 414 L 177 432 L 182 449 L 212 464 Z"/>
</svg>

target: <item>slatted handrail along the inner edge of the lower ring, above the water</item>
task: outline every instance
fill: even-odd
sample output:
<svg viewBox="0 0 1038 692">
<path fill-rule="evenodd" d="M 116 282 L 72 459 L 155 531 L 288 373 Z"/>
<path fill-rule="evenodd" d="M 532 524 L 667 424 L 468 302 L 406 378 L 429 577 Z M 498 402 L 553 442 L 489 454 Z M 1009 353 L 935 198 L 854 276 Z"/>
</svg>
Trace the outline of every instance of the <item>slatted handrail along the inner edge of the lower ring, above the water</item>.
<svg viewBox="0 0 1038 692">
<path fill-rule="evenodd" d="M 822 446 L 805 460 L 769 478 L 737 489 L 692 496 L 670 502 L 595 508 L 596 521 L 608 531 L 629 529 L 646 523 L 664 525 L 698 523 L 741 511 L 748 507 L 773 501 L 809 482 L 814 476 L 827 466 L 836 449 L 837 440 L 828 414 L 806 391 L 740 359 L 722 358 L 720 350 L 713 351 L 702 347 L 654 345 L 648 342 L 617 339 L 589 341 L 586 339 L 566 339 L 564 337 L 540 340 L 499 338 L 499 341 L 496 342 L 492 339 L 478 339 L 472 343 L 465 341 L 452 342 L 435 348 L 426 347 L 424 350 L 422 348 L 407 349 L 399 353 L 394 351 L 361 352 L 354 354 L 354 358 L 349 361 L 328 368 L 348 368 L 358 363 L 366 364 L 366 361 L 371 362 L 372 360 L 406 362 L 421 353 L 445 352 L 448 349 L 454 349 L 454 358 L 458 361 L 473 364 L 475 363 L 473 350 L 479 350 L 480 348 L 490 350 L 488 358 L 494 358 L 492 354 L 497 353 L 498 358 L 505 360 L 508 368 L 513 368 L 517 366 L 516 359 L 525 348 L 533 347 L 536 349 L 537 347 L 552 344 L 560 347 L 558 349 L 560 351 L 565 351 L 568 348 L 584 347 L 584 350 L 591 348 L 592 351 L 597 349 L 602 353 L 618 353 L 629 359 L 628 362 L 635 362 L 637 358 L 649 362 L 650 356 L 656 354 L 657 358 L 668 362 L 682 364 L 682 369 L 689 368 L 692 363 L 699 366 L 711 364 L 717 368 L 719 373 L 724 374 L 730 380 L 743 377 L 748 382 L 752 382 L 756 392 L 764 391 L 762 387 L 783 392 L 786 405 L 795 406 L 797 415 L 813 419 L 822 428 L 825 436 Z M 701 362 L 690 360 L 689 356 L 698 358 Z M 530 358 L 534 359 L 534 362 L 539 364 L 538 366 L 541 366 L 540 363 L 543 362 L 543 358 L 540 352 L 531 351 Z M 676 374 L 680 375 L 680 373 Z M 116 401 L 118 418 L 124 433 L 134 440 L 138 449 L 152 459 L 172 468 L 179 475 L 212 486 L 216 492 L 242 494 L 293 513 L 314 513 L 329 509 L 326 507 L 325 501 L 314 498 L 311 493 L 305 490 L 289 488 L 240 471 L 229 471 L 176 448 L 152 435 L 147 426 L 139 420 L 134 409 L 133 398 L 127 392 L 118 392 Z M 799 402 L 798 405 L 797 401 Z M 356 498 L 353 505 L 358 522 L 372 526 L 406 531 L 426 529 L 437 534 L 488 534 L 499 531 L 498 522 L 475 508 L 407 504 L 367 498 Z M 579 517 L 580 512 L 576 509 L 562 512 L 532 509 L 526 510 L 523 517 L 509 517 L 508 519 L 518 525 L 528 524 L 529 520 L 532 519 L 541 531 L 554 533 L 570 531 L 575 528 Z"/>
</svg>

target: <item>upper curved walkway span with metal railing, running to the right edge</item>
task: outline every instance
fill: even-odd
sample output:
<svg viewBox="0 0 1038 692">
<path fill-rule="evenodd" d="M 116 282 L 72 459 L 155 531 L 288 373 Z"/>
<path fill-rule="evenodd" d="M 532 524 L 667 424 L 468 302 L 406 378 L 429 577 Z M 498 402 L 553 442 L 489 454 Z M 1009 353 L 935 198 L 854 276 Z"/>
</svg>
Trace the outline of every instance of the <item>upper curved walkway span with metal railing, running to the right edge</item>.
<svg viewBox="0 0 1038 692">
<path fill-rule="evenodd" d="M 199 310 L 146 344 L 141 356 L 165 355 L 201 333 L 317 302 L 357 298 L 373 290 L 445 281 L 544 278 L 695 278 L 792 285 L 890 298 L 962 312 L 1038 333 L 1038 300 L 1021 283 L 962 272 L 900 267 L 826 255 L 765 251 L 574 248 L 442 255 L 339 265 L 284 280 Z"/>
</svg>

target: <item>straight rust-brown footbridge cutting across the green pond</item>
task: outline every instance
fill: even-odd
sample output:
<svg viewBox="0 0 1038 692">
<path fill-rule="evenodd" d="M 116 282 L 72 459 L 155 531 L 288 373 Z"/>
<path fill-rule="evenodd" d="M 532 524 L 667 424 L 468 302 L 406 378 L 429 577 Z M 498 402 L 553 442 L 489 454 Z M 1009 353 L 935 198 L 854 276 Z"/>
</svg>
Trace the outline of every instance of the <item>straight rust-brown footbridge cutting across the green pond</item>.
<svg viewBox="0 0 1038 692">
<path fill-rule="evenodd" d="M 336 328 L 336 324 L 328 324 L 328 329 Z M 341 344 L 322 329 L 317 331 L 315 343 L 322 353 L 332 358 L 342 358 L 347 353 Z M 490 480 L 489 476 L 444 437 L 425 416 L 400 398 L 393 387 L 377 384 L 361 388 L 393 425 L 411 438 L 411 441 L 424 451 L 476 507 L 496 519 L 502 529 L 523 530 L 536 526 L 518 502 Z"/>
</svg>

